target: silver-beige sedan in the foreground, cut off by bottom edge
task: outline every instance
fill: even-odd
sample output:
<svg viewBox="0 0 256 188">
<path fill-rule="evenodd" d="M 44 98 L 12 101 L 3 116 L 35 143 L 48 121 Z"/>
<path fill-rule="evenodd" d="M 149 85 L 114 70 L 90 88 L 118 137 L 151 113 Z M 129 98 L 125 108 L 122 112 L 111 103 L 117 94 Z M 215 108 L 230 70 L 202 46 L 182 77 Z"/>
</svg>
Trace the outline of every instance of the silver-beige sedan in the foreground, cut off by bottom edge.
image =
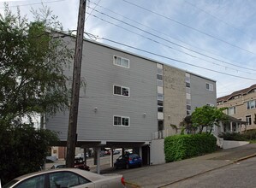
<svg viewBox="0 0 256 188">
<path fill-rule="evenodd" d="M 37 173 L 28 173 L 8 184 L 3 188 L 13 187 L 125 187 L 125 181 L 121 174 L 91 173 L 77 168 L 61 168 Z"/>
</svg>

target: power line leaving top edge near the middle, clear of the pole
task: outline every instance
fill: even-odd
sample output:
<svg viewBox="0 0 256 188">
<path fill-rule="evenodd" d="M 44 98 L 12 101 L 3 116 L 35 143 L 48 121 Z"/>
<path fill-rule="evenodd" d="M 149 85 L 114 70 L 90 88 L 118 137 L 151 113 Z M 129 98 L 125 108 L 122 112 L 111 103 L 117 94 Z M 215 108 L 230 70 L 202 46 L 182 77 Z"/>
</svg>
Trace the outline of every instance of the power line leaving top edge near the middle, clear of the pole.
<svg viewBox="0 0 256 188">
<path fill-rule="evenodd" d="M 165 19 L 167 19 L 167 20 L 169 20 L 169 21 L 173 21 L 173 22 L 175 22 L 175 23 L 177 23 L 177 24 L 179 24 L 179 25 L 185 26 L 185 27 L 187 27 L 187 28 L 189 28 L 189 29 L 191 29 L 191 30 L 193 30 L 193 31 L 195 31 L 195 32 L 202 33 L 202 34 L 204 34 L 204 35 L 206 35 L 206 36 L 208 36 L 208 37 L 210 37 L 210 38 L 214 38 L 214 39 L 216 39 L 216 40 L 218 40 L 218 41 L 220 41 L 220 42 L 223 42 L 223 43 L 225 43 L 225 44 L 229 44 L 230 46 L 233 46 L 233 47 L 235 47 L 235 48 L 237 48 L 237 49 L 244 50 L 244 51 L 247 51 L 247 52 L 250 53 L 250 54 L 256 55 L 256 54 L 253 53 L 252 51 L 243 49 L 243 48 L 241 48 L 240 46 L 237 46 L 237 45 L 235 45 L 235 44 L 231 44 L 231 43 L 229 43 L 229 42 L 227 42 L 227 41 L 225 41 L 225 40 L 223 40 L 223 39 L 221 39 L 221 38 L 217 38 L 217 37 L 215 37 L 215 36 L 213 36 L 213 35 L 211 35 L 211 34 L 209 34 L 209 33 L 202 32 L 202 31 L 200 31 L 199 29 L 196 29 L 196 28 L 194 28 L 194 27 L 192 27 L 192 26 L 188 26 L 188 25 L 186 25 L 186 24 L 183 24 L 182 22 L 176 21 L 176 20 L 174 20 L 174 19 L 171 19 L 170 17 L 167 17 L 167 16 L 165 16 L 165 15 L 161 15 L 161 14 L 159 14 L 159 13 L 157 13 L 157 12 L 152 11 L 151 9 L 146 9 L 146 8 L 144 8 L 144 7 L 142 7 L 142 6 L 138 5 L 138 4 L 128 2 L 127 0 L 122 0 L 122 1 L 125 2 L 125 3 L 129 3 L 129 4 L 131 4 L 131 5 L 134 5 L 135 7 L 138 7 L 138 8 L 140 8 L 140 9 L 144 9 L 144 10 L 146 10 L 146 11 L 148 11 L 148 12 L 151 12 L 151 13 L 154 14 L 154 15 L 161 16 L 161 17 L 163 17 L 163 18 L 165 18 Z"/>
</svg>

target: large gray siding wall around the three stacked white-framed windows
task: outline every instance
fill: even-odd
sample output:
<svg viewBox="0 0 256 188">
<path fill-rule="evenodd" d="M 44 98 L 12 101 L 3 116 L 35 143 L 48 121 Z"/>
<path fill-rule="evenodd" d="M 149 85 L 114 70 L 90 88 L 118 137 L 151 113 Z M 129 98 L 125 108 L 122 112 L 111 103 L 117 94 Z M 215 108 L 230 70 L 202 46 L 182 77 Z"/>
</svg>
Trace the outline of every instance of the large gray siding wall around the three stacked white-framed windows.
<svg viewBox="0 0 256 188">
<path fill-rule="evenodd" d="M 114 55 L 128 58 L 130 68 L 114 65 Z M 156 63 L 85 42 L 81 68 L 86 88 L 80 90 L 78 140 L 150 141 L 158 129 Z M 72 77 L 72 70 L 67 73 Z M 113 95 L 113 85 L 129 87 L 130 97 Z M 130 126 L 113 126 L 113 115 L 128 116 Z M 68 110 L 50 118 L 46 127 L 60 132 L 60 139 L 66 140 Z"/>
</svg>

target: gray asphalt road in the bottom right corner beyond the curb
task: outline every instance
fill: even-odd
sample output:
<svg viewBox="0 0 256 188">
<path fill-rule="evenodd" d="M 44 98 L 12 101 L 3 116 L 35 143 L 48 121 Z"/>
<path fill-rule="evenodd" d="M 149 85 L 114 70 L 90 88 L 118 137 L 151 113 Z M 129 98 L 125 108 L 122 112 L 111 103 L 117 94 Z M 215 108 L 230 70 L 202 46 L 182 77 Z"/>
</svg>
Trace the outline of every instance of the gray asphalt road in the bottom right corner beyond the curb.
<svg viewBox="0 0 256 188">
<path fill-rule="evenodd" d="M 256 157 L 253 157 L 165 187 L 254 188 L 256 187 L 255 174 Z"/>
</svg>

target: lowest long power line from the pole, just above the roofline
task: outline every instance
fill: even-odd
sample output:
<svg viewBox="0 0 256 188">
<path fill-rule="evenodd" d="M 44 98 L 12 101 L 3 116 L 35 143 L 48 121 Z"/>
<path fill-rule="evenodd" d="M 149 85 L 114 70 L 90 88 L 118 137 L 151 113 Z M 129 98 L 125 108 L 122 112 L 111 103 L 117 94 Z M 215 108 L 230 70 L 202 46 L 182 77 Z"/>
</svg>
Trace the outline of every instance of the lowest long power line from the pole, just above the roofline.
<svg viewBox="0 0 256 188">
<path fill-rule="evenodd" d="M 87 32 L 86 32 L 86 33 L 87 33 Z M 88 34 L 93 35 L 92 33 L 88 33 Z M 133 47 L 133 46 L 128 45 L 128 44 L 122 44 L 122 43 L 116 42 L 116 41 L 111 40 L 111 39 L 108 39 L 108 38 L 99 38 L 98 36 L 95 36 L 95 35 L 94 35 L 94 37 L 95 37 L 95 38 L 98 38 L 98 39 L 107 40 L 107 41 L 109 41 L 109 42 L 111 42 L 111 43 L 120 44 L 120 45 L 122 45 L 122 46 L 131 48 L 131 49 L 134 49 L 134 50 L 140 50 L 140 51 L 142 51 L 142 52 L 146 52 L 146 53 L 151 54 L 151 55 L 153 55 L 153 56 L 159 56 L 159 57 L 162 57 L 162 58 L 164 58 L 164 59 L 168 59 L 168 60 L 171 60 L 171 61 L 174 61 L 174 62 L 180 62 L 180 63 L 182 63 L 182 64 L 186 64 L 186 65 L 189 65 L 189 66 L 192 66 L 192 67 L 195 67 L 195 68 L 205 69 L 205 70 L 208 70 L 208 71 L 211 71 L 211 72 L 214 72 L 214 73 L 222 73 L 222 74 L 224 74 L 224 75 L 228 75 L 228 76 L 232 76 L 232 77 L 240 78 L 240 79 L 249 79 L 249 80 L 253 80 L 253 81 L 256 80 L 256 79 L 251 79 L 251 78 L 247 78 L 247 77 L 237 76 L 237 75 L 230 74 L 230 73 L 223 73 L 223 72 L 220 72 L 220 71 L 212 70 L 212 69 L 210 69 L 210 68 L 200 67 L 200 66 L 198 66 L 198 65 L 193 65 L 193 64 L 188 63 L 188 62 L 183 62 L 183 61 L 181 61 L 181 60 L 177 60 L 177 59 L 174 59 L 174 58 L 170 58 L 170 57 L 168 57 L 168 56 L 162 56 L 162 55 L 153 53 L 153 52 L 151 52 L 151 51 L 142 50 L 142 49 Z"/>
</svg>

